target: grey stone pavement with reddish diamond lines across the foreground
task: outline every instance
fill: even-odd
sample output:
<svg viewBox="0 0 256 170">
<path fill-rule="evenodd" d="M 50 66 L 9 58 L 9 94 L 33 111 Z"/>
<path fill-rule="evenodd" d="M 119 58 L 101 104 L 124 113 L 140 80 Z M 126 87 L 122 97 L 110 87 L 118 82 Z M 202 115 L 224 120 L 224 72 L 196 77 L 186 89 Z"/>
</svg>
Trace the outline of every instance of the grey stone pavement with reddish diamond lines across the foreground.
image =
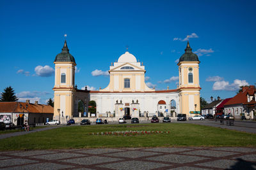
<svg viewBox="0 0 256 170">
<path fill-rule="evenodd" d="M 93 148 L 0 152 L 0 169 L 256 169 L 256 148 Z"/>
</svg>

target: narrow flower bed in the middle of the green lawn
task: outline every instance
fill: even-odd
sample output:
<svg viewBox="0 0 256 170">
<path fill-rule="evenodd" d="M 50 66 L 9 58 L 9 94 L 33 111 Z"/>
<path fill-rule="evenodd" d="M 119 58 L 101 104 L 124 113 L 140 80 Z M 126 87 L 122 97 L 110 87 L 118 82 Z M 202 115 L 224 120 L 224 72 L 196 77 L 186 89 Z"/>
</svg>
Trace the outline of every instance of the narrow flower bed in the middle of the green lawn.
<svg viewBox="0 0 256 170">
<path fill-rule="evenodd" d="M 90 135 L 98 136 L 138 136 L 138 135 L 148 135 L 148 134 L 168 134 L 169 131 L 112 131 L 112 132 L 92 132 Z"/>
</svg>

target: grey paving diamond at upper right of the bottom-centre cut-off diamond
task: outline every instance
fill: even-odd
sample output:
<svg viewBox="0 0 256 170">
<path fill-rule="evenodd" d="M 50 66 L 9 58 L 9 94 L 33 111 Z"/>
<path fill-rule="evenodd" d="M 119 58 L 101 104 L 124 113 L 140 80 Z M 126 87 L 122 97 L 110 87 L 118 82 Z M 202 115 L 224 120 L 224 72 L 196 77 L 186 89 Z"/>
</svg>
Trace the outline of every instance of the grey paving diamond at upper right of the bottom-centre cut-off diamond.
<svg viewBox="0 0 256 170">
<path fill-rule="evenodd" d="M 188 163 L 195 162 L 196 160 L 203 160 L 204 157 L 195 157 L 187 155 L 163 155 L 159 157 L 147 158 L 147 160 L 157 160 L 162 162 L 174 162 L 174 163 Z"/>
</svg>

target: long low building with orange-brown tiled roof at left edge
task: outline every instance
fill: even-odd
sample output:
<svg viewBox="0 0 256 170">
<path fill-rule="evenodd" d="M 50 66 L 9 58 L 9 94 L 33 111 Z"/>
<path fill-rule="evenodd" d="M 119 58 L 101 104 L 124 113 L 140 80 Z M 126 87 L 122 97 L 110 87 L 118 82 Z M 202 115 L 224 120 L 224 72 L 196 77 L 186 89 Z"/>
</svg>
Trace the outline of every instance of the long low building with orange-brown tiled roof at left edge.
<svg viewBox="0 0 256 170">
<path fill-rule="evenodd" d="M 53 107 L 46 104 L 25 102 L 0 102 L 0 122 L 15 125 L 45 124 L 53 117 Z"/>
</svg>

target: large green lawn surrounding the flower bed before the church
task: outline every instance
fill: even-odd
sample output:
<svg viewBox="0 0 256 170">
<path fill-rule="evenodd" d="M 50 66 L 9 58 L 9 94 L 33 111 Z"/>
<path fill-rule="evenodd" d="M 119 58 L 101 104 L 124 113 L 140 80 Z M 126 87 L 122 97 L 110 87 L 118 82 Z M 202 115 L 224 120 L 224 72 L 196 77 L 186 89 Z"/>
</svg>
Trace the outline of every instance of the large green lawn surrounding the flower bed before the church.
<svg viewBox="0 0 256 170">
<path fill-rule="evenodd" d="M 92 136 L 92 132 L 170 131 L 138 136 Z M 0 150 L 96 147 L 256 146 L 256 134 L 193 124 L 85 125 L 1 139 Z"/>
</svg>

